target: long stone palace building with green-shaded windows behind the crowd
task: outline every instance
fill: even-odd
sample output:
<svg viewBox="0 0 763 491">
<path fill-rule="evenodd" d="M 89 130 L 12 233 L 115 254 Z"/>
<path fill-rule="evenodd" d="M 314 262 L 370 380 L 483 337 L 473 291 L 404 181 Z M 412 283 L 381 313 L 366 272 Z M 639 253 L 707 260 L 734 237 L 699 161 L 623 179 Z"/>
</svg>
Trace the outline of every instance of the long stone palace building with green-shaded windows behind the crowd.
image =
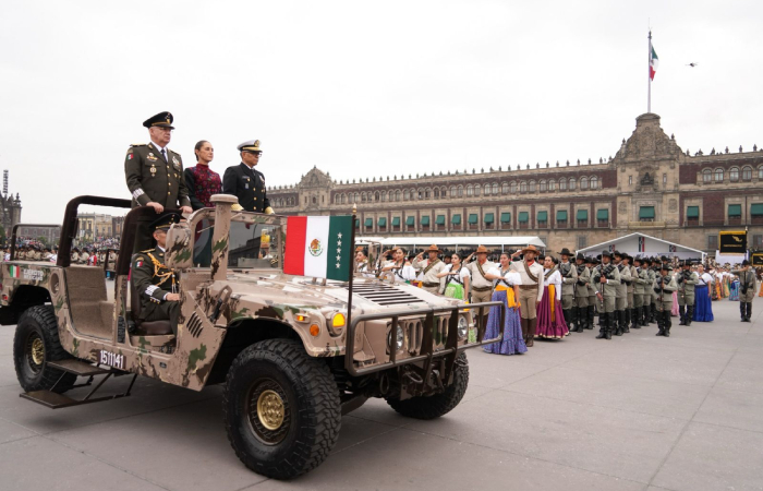
<svg viewBox="0 0 763 491">
<path fill-rule="evenodd" d="M 763 148 L 691 156 L 659 116 L 635 121 L 615 157 L 598 164 L 361 182 L 313 168 L 268 197 L 284 215 L 347 215 L 356 204 L 359 236 L 538 236 L 560 250 L 642 232 L 713 253 L 718 231 L 749 228 L 748 246 L 763 249 Z"/>
</svg>

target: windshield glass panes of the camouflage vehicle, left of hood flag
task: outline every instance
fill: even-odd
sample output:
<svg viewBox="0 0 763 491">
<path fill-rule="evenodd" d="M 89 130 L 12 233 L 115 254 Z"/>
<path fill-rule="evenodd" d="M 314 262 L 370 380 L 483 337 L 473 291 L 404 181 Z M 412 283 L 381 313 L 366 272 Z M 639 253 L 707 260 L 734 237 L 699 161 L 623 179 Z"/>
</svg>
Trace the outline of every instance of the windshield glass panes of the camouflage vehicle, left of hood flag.
<svg viewBox="0 0 763 491">
<path fill-rule="evenodd" d="M 258 217 L 254 218 L 257 221 Z M 268 219 L 268 221 L 272 221 L 272 219 Z M 284 223 L 286 220 L 283 220 Z M 286 237 L 283 224 L 231 220 L 228 267 L 234 270 L 280 268 L 280 250 Z M 196 225 L 193 262 L 197 267 L 209 267 L 211 264 L 214 228 L 211 218 L 205 218 Z"/>
</svg>

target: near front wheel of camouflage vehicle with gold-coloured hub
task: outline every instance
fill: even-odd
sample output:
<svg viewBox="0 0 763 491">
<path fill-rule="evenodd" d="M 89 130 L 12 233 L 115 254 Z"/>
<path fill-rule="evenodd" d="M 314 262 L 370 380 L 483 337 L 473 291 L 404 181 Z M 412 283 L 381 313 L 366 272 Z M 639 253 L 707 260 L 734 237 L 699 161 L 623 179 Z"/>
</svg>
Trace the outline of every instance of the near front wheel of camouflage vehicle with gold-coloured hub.
<svg viewBox="0 0 763 491">
<path fill-rule="evenodd" d="M 239 354 L 228 371 L 222 410 L 235 455 L 275 479 L 320 465 L 341 427 L 330 370 L 292 339 L 259 342 Z"/>
</svg>

